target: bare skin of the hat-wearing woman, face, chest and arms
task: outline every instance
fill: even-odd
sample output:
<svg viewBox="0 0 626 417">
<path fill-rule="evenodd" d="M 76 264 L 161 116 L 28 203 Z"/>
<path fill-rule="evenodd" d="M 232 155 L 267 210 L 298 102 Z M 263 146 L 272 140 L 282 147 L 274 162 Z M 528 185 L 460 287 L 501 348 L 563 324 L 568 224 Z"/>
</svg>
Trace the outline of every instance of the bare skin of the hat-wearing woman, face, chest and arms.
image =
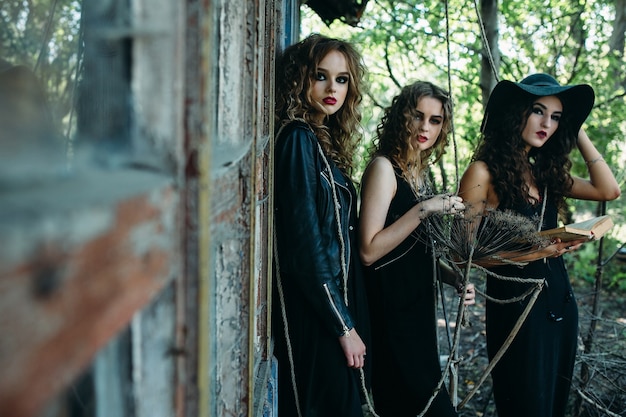
<svg viewBox="0 0 626 417">
<path fill-rule="evenodd" d="M 543 146 L 554 134 L 559 126 L 563 106 L 556 96 L 538 98 L 533 104 L 533 112 L 528 121 L 522 137 L 526 142 L 526 152 L 533 147 Z M 578 132 L 578 151 L 585 161 L 589 172 L 589 178 L 572 177 L 574 180 L 568 197 L 580 200 L 609 201 L 620 195 L 619 185 L 609 166 L 602 160 L 602 155 L 593 145 L 584 129 Z M 539 199 L 539 190 L 530 174 L 527 178 L 530 195 L 535 200 Z M 499 205 L 498 196 L 491 183 L 491 174 L 487 165 L 482 161 L 475 161 L 467 168 L 461 179 L 459 194 L 463 195 L 468 207 L 466 216 L 475 216 L 485 213 L 488 209 L 495 209 Z M 556 239 L 550 245 L 537 248 L 530 253 L 514 257 L 515 261 L 530 262 L 537 259 L 558 257 L 565 253 L 578 249 L 588 240 L 573 242 L 561 242 Z"/>
</svg>

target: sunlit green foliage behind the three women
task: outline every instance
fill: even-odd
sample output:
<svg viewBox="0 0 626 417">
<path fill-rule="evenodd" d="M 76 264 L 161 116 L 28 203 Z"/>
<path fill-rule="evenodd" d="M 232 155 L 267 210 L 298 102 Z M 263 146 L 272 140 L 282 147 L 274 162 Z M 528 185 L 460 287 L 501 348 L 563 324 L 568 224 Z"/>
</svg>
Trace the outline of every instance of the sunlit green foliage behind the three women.
<svg viewBox="0 0 626 417">
<path fill-rule="evenodd" d="M 454 144 L 434 168 L 447 191 L 470 161 L 479 136 L 483 105 L 481 91 L 482 39 L 476 2 L 464 0 L 371 1 L 358 27 L 340 22 L 324 25 L 306 6 L 302 8 L 302 35 L 321 32 L 352 41 L 361 48 L 369 70 L 369 92 L 364 100 L 365 137 L 372 138 L 382 108 L 399 87 L 426 79 L 449 89 L 454 99 Z M 448 10 L 446 13 L 446 4 Z M 498 79 L 520 80 L 533 72 L 547 72 L 561 83 L 587 83 L 596 93 L 585 129 L 612 167 L 621 188 L 626 164 L 626 60 L 624 45 L 612 44 L 615 2 L 570 0 L 510 0 L 498 2 Z M 446 17 L 448 16 L 448 17 Z M 365 147 L 363 147 L 365 149 Z M 588 177 L 577 151 L 572 174 Z M 361 163 L 365 161 L 362 158 Z M 457 169 L 458 167 L 458 169 Z M 626 240 L 626 197 L 607 204 L 616 230 L 612 237 Z M 597 213 L 595 202 L 571 201 L 578 217 Z M 585 246 L 572 271 L 593 277 L 586 269 L 593 245 Z M 589 258 L 582 258 L 587 256 Z M 613 261 L 613 263 L 615 263 Z M 586 272 L 585 272 L 586 271 Z M 622 272 L 613 280 L 626 286 Z M 586 279 L 586 278 L 585 278 Z"/>
</svg>

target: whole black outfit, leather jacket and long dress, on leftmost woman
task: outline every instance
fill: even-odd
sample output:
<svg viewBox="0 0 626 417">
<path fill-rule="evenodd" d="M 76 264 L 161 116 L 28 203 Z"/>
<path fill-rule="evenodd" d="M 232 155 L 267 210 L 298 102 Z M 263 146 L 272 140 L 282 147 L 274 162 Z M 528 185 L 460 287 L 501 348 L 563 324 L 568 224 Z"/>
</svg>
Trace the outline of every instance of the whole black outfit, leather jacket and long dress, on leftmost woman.
<svg viewBox="0 0 626 417">
<path fill-rule="evenodd" d="M 317 138 L 300 122 L 281 132 L 275 146 L 274 196 L 280 275 L 274 279 L 272 308 L 278 412 L 298 416 L 292 382 L 295 375 L 302 417 L 362 417 L 360 374 L 348 367 L 339 343 L 339 338 L 345 337 L 341 336 L 342 329 L 354 327 L 369 349 L 367 299 L 357 248 L 356 190 L 328 158 L 341 216 L 340 238 L 331 176 Z M 345 245 L 340 245 L 340 240 Z M 348 273 L 345 289 L 340 268 L 342 247 Z"/>
</svg>

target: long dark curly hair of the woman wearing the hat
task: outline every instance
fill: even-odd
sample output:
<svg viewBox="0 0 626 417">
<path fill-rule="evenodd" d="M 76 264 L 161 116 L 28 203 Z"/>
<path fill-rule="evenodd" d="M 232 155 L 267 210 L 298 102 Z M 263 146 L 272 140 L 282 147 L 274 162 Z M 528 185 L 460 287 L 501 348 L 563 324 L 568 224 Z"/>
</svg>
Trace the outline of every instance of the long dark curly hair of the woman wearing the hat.
<svg viewBox="0 0 626 417">
<path fill-rule="evenodd" d="M 576 144 L 576 134 L 564 112 L 552 137 L 542 147 L 526 152 L 522 131 L 536 98 L 529 94 L 521 96 L 510 103 L 507 111 L 498 113 L 498 120 L 488 120 L 487 114 L 472 160 L 487 164 L 500 206 L 537 204 L 526 180 L 530 176 L 540 192 L 547 188 L 557 207 L 564 209 L 565 196 L 573 185 L 569 154 Z"/>
</svg>

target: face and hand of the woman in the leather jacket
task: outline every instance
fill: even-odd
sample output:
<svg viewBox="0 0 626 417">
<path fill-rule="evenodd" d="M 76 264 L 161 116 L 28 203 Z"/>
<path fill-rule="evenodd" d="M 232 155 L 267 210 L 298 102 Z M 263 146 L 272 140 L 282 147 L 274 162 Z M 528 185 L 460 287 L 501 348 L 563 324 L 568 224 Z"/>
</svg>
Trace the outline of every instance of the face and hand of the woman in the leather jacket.
<svg viewBox="0 0 626 417">
<path fill-rule="evenodd" d="M 319 121 L 335 114 L 343 106 L 348 94 L 350 71 L 346 57 L 339 51 L 330 51 L 320 61 L 309 97 L 319 109 Z M 365 364 L 366 347 L 355 328 L 339 337 L 339 344 L 350 368 L 360 369 Z"/>
</svg>

